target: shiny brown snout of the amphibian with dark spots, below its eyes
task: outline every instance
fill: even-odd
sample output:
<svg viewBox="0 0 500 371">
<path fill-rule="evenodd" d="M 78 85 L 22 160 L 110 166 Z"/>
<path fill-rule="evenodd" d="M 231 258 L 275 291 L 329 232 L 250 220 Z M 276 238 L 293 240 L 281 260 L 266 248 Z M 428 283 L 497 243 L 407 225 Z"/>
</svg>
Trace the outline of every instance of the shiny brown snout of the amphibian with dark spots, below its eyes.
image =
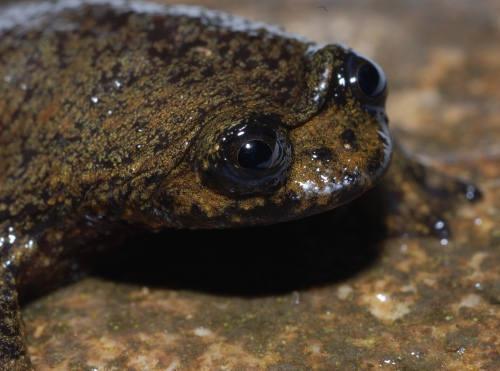
<svg viewBox="0 0 500 371">
<path fill-rule="evenodd" d="M 320 121 L 314 123 L 319 143 L 304 145 L 295 153 L 287 188 L 321 210 L 338 207 L 372 188 L 389 166 L 392 141 L 387 125 L 375 119 L 365 123 L 369 127 L 364 132 L 337 130 L 331 122 Z"/>
</svg>

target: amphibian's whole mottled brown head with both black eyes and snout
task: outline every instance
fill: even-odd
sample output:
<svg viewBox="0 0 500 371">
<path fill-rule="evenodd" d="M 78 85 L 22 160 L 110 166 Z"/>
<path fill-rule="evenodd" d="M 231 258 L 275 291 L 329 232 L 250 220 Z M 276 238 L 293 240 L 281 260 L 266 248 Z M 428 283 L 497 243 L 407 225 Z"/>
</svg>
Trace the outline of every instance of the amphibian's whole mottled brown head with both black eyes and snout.
<svg viewBox="0 0 500 371">
<path fill-rule="evenodd" d="M 279 65 L 266 65 L 260 79 L 244 69 L 231 77 L 237 103 L 207 118 L 162 190 L 174 223 L 227 227 L 301 218 L 352 201 L 384 174 L 392 143 L 381 68 L 337 45 L 309 48 L 290 63 L 281 68 L 292 77 L 271 89 L 262 87 L 262 76 L 272 80 Z"/>
</svg>

